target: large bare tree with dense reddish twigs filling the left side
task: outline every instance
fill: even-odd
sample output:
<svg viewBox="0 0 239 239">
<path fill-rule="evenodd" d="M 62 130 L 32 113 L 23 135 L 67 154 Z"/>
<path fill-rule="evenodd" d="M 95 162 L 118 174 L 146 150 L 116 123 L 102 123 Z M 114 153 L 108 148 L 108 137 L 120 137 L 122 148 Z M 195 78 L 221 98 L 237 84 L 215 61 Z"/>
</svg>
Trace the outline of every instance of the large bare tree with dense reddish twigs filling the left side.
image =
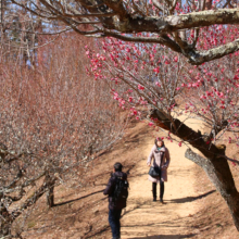
<svg viewBox="0 0 239 239">
<path fill-rule="evenodd" d="M 83 43 L 62 35 L 35 68 L 1 54 L 0 237 L 21 234 L 12 224 L 41 196 L 53 206 L 55 186 L 86 185 L 97 153 L 121 138 L 125 123 L 106 84 L 86 76 Z"/>
</svg>

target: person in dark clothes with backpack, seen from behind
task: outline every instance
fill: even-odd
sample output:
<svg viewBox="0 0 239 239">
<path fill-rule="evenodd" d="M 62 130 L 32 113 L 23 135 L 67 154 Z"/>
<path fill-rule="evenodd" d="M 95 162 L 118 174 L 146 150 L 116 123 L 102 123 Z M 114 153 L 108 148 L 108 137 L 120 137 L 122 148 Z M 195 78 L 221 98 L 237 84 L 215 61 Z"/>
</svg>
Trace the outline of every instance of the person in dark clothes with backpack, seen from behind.
<svg viewBox="0 0 239 239">
<path fill-rule="evenodd" d="M 103 193 L 109 196 L 109 223 L 113 239 L 121 238 L 121 214 L 128 198 L 127 174 L 122 172 L 122 164 L 115 163 L 113 173 Z"/>
</svg>

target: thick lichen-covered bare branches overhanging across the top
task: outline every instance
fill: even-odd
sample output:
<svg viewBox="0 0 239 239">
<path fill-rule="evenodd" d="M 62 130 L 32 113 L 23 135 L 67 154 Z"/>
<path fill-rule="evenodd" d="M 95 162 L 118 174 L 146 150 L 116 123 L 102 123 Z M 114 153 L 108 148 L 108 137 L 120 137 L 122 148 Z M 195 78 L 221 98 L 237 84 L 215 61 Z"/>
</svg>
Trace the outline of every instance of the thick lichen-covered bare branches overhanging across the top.
<svg viewBox="0 0 239 239">
<path fill-rule="evenodd" d="M 227 43 L 211 46 L 210 49 L 200 49 L 203 27 L 238 25 L 239 9 L 235 0 L 11 0 L 11 2 L 46 20 L 49 27 L 58 26 L 55 33 L 71 29 L 85 36 L 154 42 L 185 55 L 196 65 L 234 53 L 239 49 L 238 38 L 230 39 Z M 53 30 L 49 33 L 52 34 Z"/>
</svg>

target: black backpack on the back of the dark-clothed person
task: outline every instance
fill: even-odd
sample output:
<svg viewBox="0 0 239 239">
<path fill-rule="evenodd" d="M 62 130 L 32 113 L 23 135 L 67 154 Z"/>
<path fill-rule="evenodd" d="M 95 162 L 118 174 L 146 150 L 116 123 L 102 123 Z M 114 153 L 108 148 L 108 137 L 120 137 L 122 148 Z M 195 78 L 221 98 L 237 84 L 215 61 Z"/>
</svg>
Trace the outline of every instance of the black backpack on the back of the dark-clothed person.
<svg viewBox="0 0 239 239">
<path fill-rule="evenodd" d="M 113 202 L 115 205 L 121 204 L 124 207 L 126 206 L 126 200 L 128 198 L 128 187 L 129 184 L 127 179 L 122 177 L 115 177 L 115 188 L 113 192 Z"/>
</svg>

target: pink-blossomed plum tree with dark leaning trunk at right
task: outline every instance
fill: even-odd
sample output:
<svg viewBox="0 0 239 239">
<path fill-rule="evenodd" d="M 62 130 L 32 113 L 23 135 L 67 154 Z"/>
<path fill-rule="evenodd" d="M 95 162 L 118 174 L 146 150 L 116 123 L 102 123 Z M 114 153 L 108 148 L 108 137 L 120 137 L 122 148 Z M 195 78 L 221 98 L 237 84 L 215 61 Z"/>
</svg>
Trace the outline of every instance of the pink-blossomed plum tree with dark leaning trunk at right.
<svg viewBox="0 0 239 239">
<path fill-rule="evenodd" d="M 227 42 L 237 27 L 214 26 L 202 30 L 201 49 Z M 239 192 L 228 165 L 238 162 L 226 155 L 226 146 L 239 147 L 239 59 L 238 52 L 216 61 L 191 66 L 185 56 L 158 45 L 131 43 L 106 38 L 102 51 L 86 47 L 88 73 L 109 81 L 113 98 L 129 109 L 137 120 L 148 118 L 155 130 L 166 130 L 166 139 L 186 143 L 186 158 L 200 165 L 226 201 L 239 230 Z M 181 121 L 180 116 L 186 120 Z M 185 121 L 197 117 L 209 129 L 202 135 Z M 229 135 L 228 135 L 229 134 Z M 177 136 L 176 139 L 174 136 Z M 192 150 L 198 149 L 201 154 Z"/>
</svg>

